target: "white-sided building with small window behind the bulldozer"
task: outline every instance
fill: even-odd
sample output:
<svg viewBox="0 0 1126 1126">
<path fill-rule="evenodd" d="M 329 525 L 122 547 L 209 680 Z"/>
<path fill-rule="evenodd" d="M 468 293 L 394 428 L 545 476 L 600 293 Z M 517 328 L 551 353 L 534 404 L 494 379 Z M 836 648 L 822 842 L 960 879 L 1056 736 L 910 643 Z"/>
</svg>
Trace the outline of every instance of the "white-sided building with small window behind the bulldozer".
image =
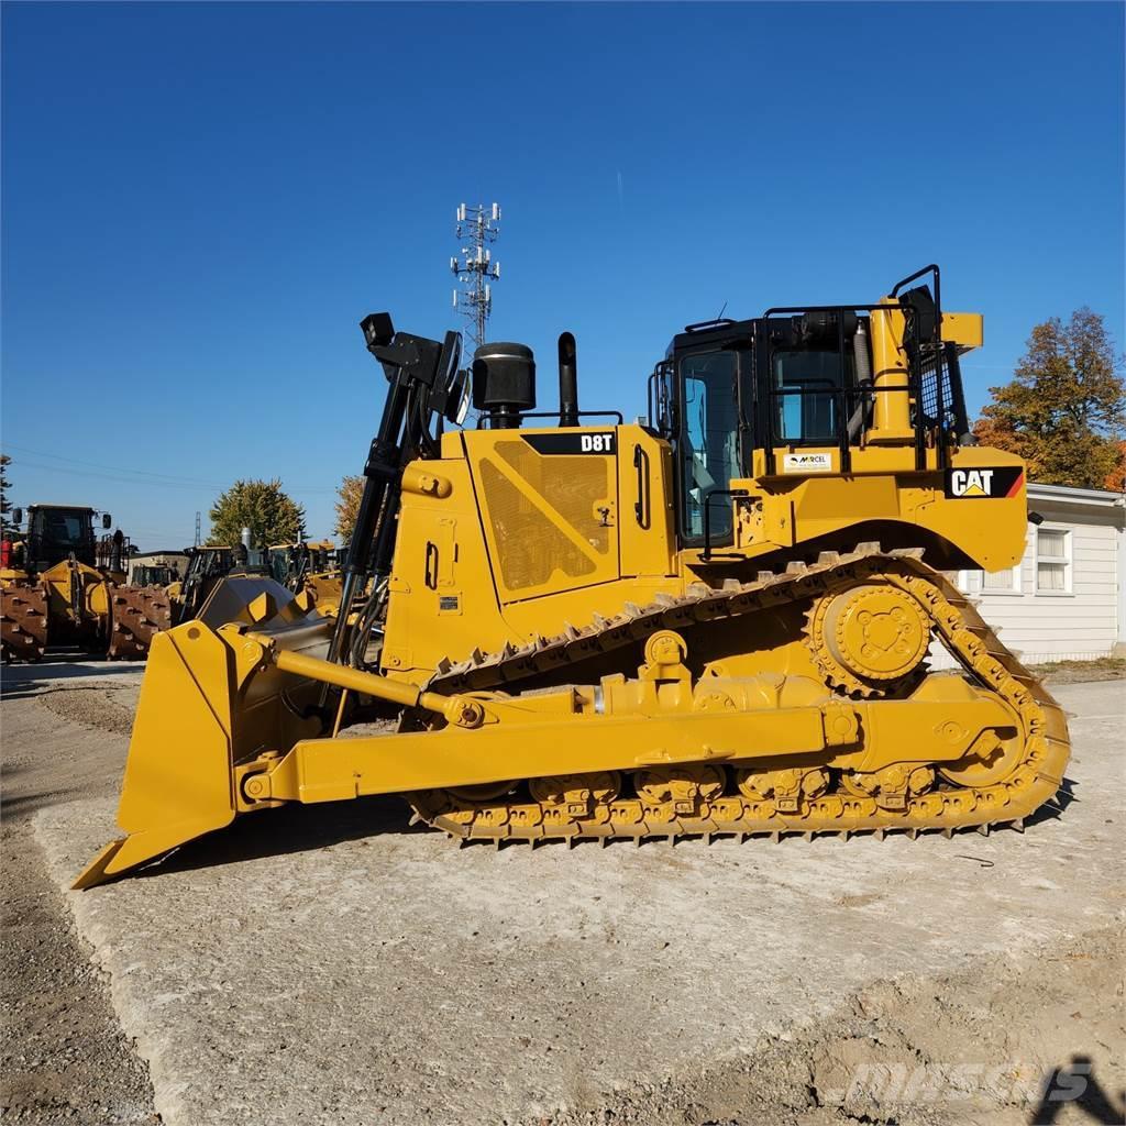
<svg viewBox="0 0 1126 1126">
<path fill-rule="evenodd" d="M 1028 510 L 1043 522 L 1029 522 L 1020 563 L 995 574 L 962 571 L 958 586 L 1025 664 L 1123 655 L 1126 498 L 1029 484 Z"/>
</svg>

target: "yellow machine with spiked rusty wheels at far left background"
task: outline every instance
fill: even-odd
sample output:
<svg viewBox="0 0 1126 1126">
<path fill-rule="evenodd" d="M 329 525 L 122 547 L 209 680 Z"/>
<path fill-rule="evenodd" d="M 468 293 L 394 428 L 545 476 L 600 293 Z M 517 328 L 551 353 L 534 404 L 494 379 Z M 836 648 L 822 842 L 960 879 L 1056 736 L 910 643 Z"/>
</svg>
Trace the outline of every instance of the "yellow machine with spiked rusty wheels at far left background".
<svg viewBox="0 0 1126 1126">
<path fill-rule="evenodd" d="M 0 649 L 3 661 L 38 661 L 48 644 L 136 660 L 167 628 L 169 605 L 158 587 L 126 583 L 127 537 L 92 508 L 32 504 L 21 538 L 0 547 Z M 19 536 L 23 509 L 12 517 Z"/>
</svg>

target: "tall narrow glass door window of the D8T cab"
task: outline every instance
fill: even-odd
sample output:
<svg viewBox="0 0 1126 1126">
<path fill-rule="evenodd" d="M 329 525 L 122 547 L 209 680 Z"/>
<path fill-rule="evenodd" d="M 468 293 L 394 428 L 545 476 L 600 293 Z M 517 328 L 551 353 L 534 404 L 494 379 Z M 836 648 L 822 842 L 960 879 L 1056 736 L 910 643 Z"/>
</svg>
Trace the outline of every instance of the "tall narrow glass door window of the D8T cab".
<svg viewBox="0 0 1126 1126">
<path fill-rule="evenodd" d="M 689 539 L 704 537 L 704 509 L 717 489 L 729 489 L 739 466 L 738 363 L 734 352 L 688 356 L 680 364 L 683 422 L 680 434 L 683 529 Z M 731 538 L 726 497 L 708 506 L 713 543 Z"/>
</svg>

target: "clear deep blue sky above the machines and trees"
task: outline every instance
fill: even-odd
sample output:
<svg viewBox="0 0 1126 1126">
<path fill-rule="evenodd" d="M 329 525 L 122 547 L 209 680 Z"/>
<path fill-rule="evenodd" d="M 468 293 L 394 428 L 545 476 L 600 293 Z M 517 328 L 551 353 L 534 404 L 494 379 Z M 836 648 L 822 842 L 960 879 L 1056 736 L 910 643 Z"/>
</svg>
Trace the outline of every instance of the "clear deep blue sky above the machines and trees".
<svg viewBox="0 0 1126 1126">
<path fill-rule="evenodd" d="M 384 383 L 357 322 L 456 325 L 462 200 L 500 200 L 494 339 L 579 342 L 644 410 L 720 312 L 875 298 L 938 260 L 983 312 L 972 408 L 1031 325 L 1123 331 L 1120 5 L 6 3 L 12 500 L 190 543 L 239 476 L 330 531 Z"/>
</svg>

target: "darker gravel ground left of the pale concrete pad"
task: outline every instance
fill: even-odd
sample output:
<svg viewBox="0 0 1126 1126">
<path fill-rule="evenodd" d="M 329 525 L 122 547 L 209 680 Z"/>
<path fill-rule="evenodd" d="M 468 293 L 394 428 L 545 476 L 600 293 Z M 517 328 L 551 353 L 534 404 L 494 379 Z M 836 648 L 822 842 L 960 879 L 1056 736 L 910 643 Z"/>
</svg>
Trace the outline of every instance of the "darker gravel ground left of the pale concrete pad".
<svg viewBox="0 0 1126 1126">
<path fill-rule="evenodd" d="M 0 1115 L 42 1126 L 158 1123 L 148 1065 L 30 829 L 37 810 L 114 792 L 140 673 L 44 662 L 3 679 Z"/>
</svg>

